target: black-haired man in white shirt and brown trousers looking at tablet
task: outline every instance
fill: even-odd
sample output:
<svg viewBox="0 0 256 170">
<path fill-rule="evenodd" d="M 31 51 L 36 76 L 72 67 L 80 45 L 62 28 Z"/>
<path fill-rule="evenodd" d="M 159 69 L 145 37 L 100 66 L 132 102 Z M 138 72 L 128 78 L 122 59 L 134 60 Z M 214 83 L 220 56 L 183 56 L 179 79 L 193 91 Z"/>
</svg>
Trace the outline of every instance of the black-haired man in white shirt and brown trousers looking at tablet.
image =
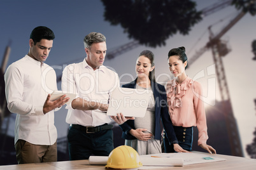
<svg viewBox="0 0 256 170">
<path fill-rule="evenodd" d="M 15 121 L 15 150 L 18 164 L 57 161 L 57 129 L 54 109 L 69 98 L 50 101 L 57 90 L 56 74 L 45 62 L 52 49 L 52 30 L 39 26 L 31 32 L 29 53 L 11 63 L 4 74 L 6 100 Z"/>
</svg>

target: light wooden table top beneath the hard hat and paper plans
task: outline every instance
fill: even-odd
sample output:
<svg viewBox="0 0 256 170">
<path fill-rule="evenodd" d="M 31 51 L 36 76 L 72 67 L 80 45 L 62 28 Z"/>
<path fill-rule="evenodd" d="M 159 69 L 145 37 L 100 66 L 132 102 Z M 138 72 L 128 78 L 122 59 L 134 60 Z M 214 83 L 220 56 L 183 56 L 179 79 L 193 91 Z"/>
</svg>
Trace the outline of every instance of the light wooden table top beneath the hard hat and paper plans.
<svg viewBox="0 0 256 170">
<path fill-rule="evenodd" d="M 204 156 L 210 156 L 210 154 L 201 153 Z M 244 157 L 234 157 L 228 155 L 216 154 L 215 157 L 221 157 L 227 159 L 220 162 L 210 162 L 204 164 L 192 164 L 187 166 L 169 166 L 165 168 L 155 168 L 155 169 L 239 169 L 248 170 L 256 169 L 256 159 L 248 159 Z M 48 163 L 38 163 L 38 164 L 20 164 L 20 165 L 10 165 L 10 166 L 0 166 L 2 169 L 11 170 L 59 170 L 59 169 L 87 169 L 87 170 L 103 170 L 105 166 L 91 166 L 89 160 L 72 160 L 72 161 L 60 161 L 60 162 L 48 162 Z"/>
</svg>

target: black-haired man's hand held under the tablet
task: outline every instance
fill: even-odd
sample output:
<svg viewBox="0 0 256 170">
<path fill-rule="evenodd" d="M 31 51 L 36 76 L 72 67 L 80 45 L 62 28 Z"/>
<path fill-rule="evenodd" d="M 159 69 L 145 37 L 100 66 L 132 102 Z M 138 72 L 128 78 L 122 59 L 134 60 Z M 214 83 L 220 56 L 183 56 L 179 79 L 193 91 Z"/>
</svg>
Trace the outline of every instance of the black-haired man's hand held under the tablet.
<svg viewBox="0 0 256 170">
<path fill-rule="evenodd" d="M 70 99 L 70 98 L 65 98 L 66 95 L 63 95 L 60 98 L 58 98 L 57 100 L 50 101 L 50 97 L 51 97 L 51 95 L 48 94 L 48 96 L 47 96 L 47 98 L 45 100 L 45 104 L 43 105 L 43 113 L 44 114 L 50 112 L 54 108 L 62 107 L 62 105 L 67 103 L 69 101 L 69 99 Z"/>
</svg>

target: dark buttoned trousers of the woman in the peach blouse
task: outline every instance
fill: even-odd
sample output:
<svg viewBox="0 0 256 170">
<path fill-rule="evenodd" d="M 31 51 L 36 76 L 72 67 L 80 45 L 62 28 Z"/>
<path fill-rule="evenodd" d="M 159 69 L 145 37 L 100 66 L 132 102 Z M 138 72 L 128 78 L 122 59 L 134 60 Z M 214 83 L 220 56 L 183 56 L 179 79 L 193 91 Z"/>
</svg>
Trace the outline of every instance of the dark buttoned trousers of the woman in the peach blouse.
<svg viewBox="0 0 256 170">
<path fill-rule="evenodd" d="M 193 143 L 193 127 L 190 128 L 183 128 L 181 126 L 173 126 L 176 138 L 178 139 L 179 145 L 184 150 L 191 151 L 192 150 L 192 143 Z M 164 133 L 164 152 L 166 153 L 173 153 L 175 150 L 173 149 L 173 143 L 169 144 L 169 140 Z"/>
</svg>

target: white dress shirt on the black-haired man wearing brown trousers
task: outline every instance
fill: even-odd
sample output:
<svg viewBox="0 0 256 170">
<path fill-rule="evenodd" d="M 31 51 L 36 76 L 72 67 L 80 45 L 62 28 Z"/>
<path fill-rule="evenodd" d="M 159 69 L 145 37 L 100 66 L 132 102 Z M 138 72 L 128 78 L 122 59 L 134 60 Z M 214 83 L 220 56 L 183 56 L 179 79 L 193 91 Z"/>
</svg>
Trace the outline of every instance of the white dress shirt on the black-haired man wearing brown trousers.
<svg viewBox="0 0 256 170">
<path fill-rule="evenodd" d="M 55 70 L 25 55 L 8 67 L 4 81 L 8 109 L 17 114 L 15 143 L 21 139 L 34 145 L 53 145 L 57 140 L 54 112 L 43 114 L 43 105 L 47 95 L 57 90 Z"/>
</svg>

